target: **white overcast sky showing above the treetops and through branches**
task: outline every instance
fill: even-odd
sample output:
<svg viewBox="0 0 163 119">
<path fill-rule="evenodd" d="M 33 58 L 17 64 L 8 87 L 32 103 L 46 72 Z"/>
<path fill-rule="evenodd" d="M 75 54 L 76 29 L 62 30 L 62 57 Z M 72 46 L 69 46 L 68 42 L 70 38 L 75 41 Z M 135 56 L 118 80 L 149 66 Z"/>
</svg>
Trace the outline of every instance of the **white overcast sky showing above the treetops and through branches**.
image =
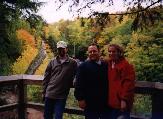
<svg viewBox="0 0 163 119">
<path fill-rule="evenodd" d="M 68 4 L 62 6 L 59 10 L 57 9 L 57 5 L 54 3 L 54 0 L 39 0 L 41 2 L 46 2 L 39 10 L 38 14 L 41 15 L 47 23 L 54 23 L 61 19 L 73 19 L 73 12 L 68 11 Z M 123 0 L 114 0 L 114 6 L 109 6 L 109 9 L 105 9 L 103 11 L 110 11 L 110 12 L 116 12 L 116 11 L 122 11 L 125 8 L 123 7 Z M 81 3 L 82 5 L 82 3 Z M 103 5 L 96 5 L 94 8 L 96 10 L 102 10 L 104 8 Z M 87 16 L 89 13 L 88 10 L 83 11 L 82 15 Z"/>
</svg>

